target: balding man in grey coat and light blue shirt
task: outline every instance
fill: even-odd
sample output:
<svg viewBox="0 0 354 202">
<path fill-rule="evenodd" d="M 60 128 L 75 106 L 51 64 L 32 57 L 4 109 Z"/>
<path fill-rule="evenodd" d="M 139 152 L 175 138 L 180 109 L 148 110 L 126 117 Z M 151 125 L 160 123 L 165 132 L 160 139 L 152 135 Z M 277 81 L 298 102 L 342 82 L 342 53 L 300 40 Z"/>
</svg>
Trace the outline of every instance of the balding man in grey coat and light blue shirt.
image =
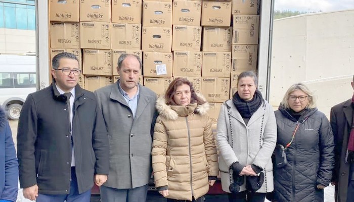
<svg viewBox="0 0 354 202">
<path fill-rule="evenodd" d="M 157 96 L 138 83 L 141 68 L 138 56 L 122 54 L 120 79 L 95 91 L 109 134 L 109 178 L 100 189 L 105 202 L 146 201 Z"/>
</svg>

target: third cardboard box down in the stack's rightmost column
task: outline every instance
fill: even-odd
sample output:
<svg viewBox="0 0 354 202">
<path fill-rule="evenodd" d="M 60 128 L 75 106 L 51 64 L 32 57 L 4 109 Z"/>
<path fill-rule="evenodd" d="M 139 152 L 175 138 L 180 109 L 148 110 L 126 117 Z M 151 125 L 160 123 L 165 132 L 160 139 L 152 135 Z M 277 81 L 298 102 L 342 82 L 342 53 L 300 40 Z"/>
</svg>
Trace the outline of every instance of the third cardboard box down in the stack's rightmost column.
<svg viewBox="0 0 354 202">
<path fill-rule="evenodd" d="M 234 29 L 232 44 L 258 44 L 258 30 Z"/>
</svg>

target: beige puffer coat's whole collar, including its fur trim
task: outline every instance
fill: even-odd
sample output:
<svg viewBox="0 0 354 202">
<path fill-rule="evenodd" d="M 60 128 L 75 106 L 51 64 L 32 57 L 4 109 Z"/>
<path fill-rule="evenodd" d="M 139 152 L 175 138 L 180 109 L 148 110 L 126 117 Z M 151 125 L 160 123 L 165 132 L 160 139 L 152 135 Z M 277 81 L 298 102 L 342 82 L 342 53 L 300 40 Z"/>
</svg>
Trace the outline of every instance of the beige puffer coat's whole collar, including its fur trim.
<svg viewBox="0 0 354 202">
<path fill-rule="evenodd" d="M 197 93 L 197 96 L 205 100 L 204 96 Z M 169 106 L 166 104 L 164 97 L 160 97 L 156 102 L 156 109 L 160 116 L 165 117 L 168 120 L 176 120 L 179 116 L 188 116 L 193 113 L 199 113 L 205 115 L 210 109 L 209 103 L 202 105 L 189 104 L 188 106 Z"/>
</svg>

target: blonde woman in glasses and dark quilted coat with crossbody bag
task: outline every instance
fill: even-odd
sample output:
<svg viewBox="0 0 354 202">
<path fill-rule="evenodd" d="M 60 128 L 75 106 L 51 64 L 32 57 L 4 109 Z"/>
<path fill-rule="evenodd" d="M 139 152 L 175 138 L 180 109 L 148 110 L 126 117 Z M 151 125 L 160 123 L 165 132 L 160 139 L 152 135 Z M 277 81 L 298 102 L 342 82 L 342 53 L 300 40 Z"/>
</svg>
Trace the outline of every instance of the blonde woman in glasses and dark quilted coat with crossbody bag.
<svg viewBox="0 0 354 202">
<path fill-rule="evenodd" d="M 275 200 L 324 201 L 323 189 L 332 178 L 334 143 L 327 117 L 316 108 L 314 93 L 303 83 L 290 86 L 275 116 L 277 144 L 289 145 L 286 165 L 274 170 Z"/>
</svg>

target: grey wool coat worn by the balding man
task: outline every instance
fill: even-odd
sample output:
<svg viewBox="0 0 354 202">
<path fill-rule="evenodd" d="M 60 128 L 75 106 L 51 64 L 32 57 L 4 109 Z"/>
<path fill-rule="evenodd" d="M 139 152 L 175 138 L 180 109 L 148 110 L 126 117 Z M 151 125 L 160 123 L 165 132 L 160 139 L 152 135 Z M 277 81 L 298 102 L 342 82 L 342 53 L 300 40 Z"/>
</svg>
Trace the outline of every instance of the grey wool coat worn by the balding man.
<svg viewBox="0 0 354 202">
<path fill-rule="evenodd" d="M 148 184 L 151 177 L 151 132 L 157 117 L 157 96 L 139 84 L 138 108 L 133 118 L 117 82 L 95 91 L 109 135 L 110 165 L 104 186 L 129 189 Z"/>
</svg>

